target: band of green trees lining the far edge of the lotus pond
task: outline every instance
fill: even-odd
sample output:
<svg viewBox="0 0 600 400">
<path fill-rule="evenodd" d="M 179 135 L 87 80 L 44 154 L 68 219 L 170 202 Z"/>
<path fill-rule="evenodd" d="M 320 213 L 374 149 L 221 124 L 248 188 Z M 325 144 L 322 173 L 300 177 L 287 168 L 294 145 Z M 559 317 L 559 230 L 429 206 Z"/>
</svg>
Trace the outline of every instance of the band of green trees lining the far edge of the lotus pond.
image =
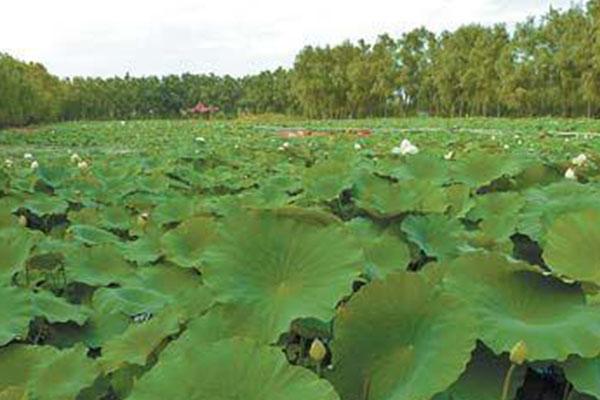
<svg viewBox="0 0 600 400">
<path fill-rule="evenodd" d="M 375 43 L 307 46 L 293 68 L 59 79 L 0 53 L 0 126 L 56 120 L 172 118 L 202 101 L 227 116 L 310 118 L 600 116 L 600 0 L 550 9 L 508 30 L 414 29 Z"/>
</svg>

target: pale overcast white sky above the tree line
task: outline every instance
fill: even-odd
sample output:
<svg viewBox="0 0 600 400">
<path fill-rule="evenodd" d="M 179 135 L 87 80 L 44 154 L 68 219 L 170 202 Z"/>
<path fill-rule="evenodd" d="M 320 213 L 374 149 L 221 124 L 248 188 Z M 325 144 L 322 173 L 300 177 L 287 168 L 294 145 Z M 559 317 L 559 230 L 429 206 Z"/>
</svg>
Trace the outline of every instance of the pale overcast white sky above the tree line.
<svg viewBox="0 0 600 400">
<path fill-rule="evenodd" d="M 425 25 L 509 26 L 571 0 L 1 0 L 0 52 L 60 76 L 241 76 L 291 66 L 308 44 Z M 576 1 L 579 4 L 579 1 Z"/>
</svg>

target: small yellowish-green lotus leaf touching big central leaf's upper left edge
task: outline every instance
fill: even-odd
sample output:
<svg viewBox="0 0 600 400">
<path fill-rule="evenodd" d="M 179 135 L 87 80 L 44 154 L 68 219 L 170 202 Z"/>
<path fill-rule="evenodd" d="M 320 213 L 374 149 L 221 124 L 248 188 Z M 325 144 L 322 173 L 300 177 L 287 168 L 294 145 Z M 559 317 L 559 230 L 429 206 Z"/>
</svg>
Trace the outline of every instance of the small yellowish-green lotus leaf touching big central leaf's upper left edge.
<svg viewBox="0 0 600 400">
<path fill-rule="evenodd" d="M 215 222 L 208 217 L 185 221 L 161 239 L 167 259 L 185 268 L 200 267 L 207 246 L 215 241 Z"/>
</svg>

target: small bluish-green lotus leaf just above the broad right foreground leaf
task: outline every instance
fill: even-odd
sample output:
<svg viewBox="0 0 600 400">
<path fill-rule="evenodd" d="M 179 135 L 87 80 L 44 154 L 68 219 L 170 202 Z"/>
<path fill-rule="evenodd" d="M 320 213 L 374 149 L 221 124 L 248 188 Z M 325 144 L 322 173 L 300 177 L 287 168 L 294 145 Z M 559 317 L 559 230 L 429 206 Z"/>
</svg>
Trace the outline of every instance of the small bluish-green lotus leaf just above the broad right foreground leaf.
<svg viewBox="0 0 600 400">
<path fill-rule="evenodd" d="M 425 254 L 439 261 L 450 260 L 468 251 L 463 225 L 443 214 L 411 215 L 402 222 L 402 230 Z"/>
</svg>

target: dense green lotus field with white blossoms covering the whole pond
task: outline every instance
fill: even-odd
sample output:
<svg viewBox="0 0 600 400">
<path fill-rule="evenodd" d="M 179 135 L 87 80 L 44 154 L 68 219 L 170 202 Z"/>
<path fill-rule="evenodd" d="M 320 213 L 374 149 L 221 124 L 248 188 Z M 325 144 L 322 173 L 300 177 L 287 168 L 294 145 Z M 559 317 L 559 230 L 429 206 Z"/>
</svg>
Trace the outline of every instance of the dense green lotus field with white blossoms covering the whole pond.
<svg viewBox="0 0 600 400">
<path fill-rule="evenodd" d="M 600 399 L 600 122 L 64 123 L 0 162 L 2 400 Z"/>
</svg>

